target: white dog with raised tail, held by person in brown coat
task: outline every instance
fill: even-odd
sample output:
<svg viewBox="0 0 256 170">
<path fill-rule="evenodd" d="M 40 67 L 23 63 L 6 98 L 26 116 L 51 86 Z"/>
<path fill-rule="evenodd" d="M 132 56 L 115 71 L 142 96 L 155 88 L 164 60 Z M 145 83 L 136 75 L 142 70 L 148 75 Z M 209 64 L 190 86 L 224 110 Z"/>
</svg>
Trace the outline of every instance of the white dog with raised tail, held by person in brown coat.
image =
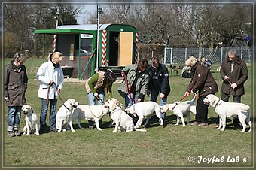
<svg viewBox="0 0 256 170">
<path fill-rule="evenodd" d="M 194 98 L 190 101 L 175 102 L 172 104 L 163 105 L 161 106 L 162 108 L 161 112 L 172 111 L 173 114 L 175 114 L 177 117 L 177 123 L 175 124 L 175 126 L 178 126 L 179 118 L 181 118 L 182 126 L 186 126 L 184 122 L 184 115 L 187 115 L 187 123 L 189 123 L 190 112 L 192 112 L 193 114 L 197 114 L 196 105 L 194 105 L 195 99 L 196 99 L 196 96 L 194 96 Z"/>
</svg>

